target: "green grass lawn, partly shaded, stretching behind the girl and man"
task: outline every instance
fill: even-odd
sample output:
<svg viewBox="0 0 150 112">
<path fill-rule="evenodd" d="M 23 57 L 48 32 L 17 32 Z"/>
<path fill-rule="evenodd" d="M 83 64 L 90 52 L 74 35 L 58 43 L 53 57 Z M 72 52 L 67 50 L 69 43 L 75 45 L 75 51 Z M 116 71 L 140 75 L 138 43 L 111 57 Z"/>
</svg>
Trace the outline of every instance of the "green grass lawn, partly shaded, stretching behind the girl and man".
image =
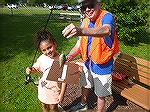
<svg viewBox="0 0 150 112">
<path fill-rule="evenodd" d="M 32 9 L 31 13 L 28 9 L 28 13 L 23 9 L 18 10 L 22 11 L 12 16 L 10 10 L 0 9 L 0 111 L 40 112 L 37 88 L 32 84 L 24 85 L 24 78 L 25 68 L 31 66 L 36 50 L 33 37 L 45 26 L 49 11 Z M 22 15 L 23 11 L 26 12 L 25 15 Z M 54 14 L 57 13 L 59 12 L 54 11 Z M 72 22 L 79 25 L 76 21 L 59 19 L 51 19 L 48 23 L 48 29 L 57 41 L 59 53 L 63 50 L 67 54 L 76 42 L 76 38 L 68 40 L 61 34 L 65 26 Z M 148 37 L 147 43 L 140 43 L 134 47 L 125 46 L 120 42 L 121 51 L 146 60 L 150 60 L 149 48 Z M 37 78 L 36 75 L 33 74 L 33 77 Z"/>
</svg>

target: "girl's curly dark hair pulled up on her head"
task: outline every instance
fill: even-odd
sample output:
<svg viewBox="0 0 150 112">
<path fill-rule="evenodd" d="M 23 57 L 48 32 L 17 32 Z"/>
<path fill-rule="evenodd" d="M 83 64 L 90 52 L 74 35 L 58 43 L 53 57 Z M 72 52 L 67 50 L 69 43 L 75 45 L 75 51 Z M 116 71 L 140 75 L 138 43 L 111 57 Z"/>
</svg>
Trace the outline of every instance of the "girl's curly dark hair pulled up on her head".
<svg viewBox="0 0 150 112">
<path fill-rule="evenodd" d="M 42 41 L 46 40 L 48 40 L 49 42 L 56 43 L 56 40 L 53 38 L 53 35 L 47 29 L 37 32 L 35 36 L 35 44 L 37 48 L 39 48 L 39 45 Z"/>
</svg>

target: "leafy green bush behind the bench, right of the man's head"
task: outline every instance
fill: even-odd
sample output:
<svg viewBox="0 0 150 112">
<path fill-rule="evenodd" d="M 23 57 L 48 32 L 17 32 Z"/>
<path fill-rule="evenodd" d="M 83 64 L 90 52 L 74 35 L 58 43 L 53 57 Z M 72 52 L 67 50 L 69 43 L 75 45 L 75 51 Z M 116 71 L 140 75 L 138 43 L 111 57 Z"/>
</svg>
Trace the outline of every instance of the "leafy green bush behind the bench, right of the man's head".
<svg viewBox="0 0 150 112">
<path fill-rule="evenodd" d="M 102 7 L 116 17 L 117 35 L 126 44 L 138 44 L 148 35 L 148 0 L 110 0 Z"/>
</svg>

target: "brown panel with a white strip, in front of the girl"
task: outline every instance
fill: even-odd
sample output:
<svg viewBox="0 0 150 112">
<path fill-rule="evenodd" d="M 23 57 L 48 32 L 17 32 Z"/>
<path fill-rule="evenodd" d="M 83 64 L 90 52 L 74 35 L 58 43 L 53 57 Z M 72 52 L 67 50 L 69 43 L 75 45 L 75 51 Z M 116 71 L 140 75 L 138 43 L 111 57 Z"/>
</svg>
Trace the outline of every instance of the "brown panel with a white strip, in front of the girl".
<svg viewBox="0 0 150 112">
<path fill-rule="evenodd" d="M 54 61 L 47 76 L 47 80 L 79 84 L 82 68 L 78 64 L 75 64 L 78 61 L 79 60 L 66 62 L 61 68 L 59 66 L 59 61 Z"/>
</svg>

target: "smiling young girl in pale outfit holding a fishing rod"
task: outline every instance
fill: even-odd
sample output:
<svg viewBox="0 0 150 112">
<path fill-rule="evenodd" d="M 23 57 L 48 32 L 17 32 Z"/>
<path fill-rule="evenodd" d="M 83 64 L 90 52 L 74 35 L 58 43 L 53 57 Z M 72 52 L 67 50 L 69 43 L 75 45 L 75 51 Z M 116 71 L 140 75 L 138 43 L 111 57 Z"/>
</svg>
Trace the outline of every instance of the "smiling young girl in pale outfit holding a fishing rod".
<svg viewBox="0 0 150 112">
<path fill-rule="evenodd" d="M 32 67 L 26 68 L 26 73 L 39 72 L 42 74 L 38 85 L 38 99 L 42 102 L 43 112 L 50 110 L 58 112 L 58 103 L 63 100 L 66 83 L 61 83 L 59 87 L 57 82 L 46 80 L 53 61 L 59 57 L 56 52 L 56 42 L 49 31 L 43 30 L 37 33 L 36 44 L 42 55 Z"/>
</svg>

